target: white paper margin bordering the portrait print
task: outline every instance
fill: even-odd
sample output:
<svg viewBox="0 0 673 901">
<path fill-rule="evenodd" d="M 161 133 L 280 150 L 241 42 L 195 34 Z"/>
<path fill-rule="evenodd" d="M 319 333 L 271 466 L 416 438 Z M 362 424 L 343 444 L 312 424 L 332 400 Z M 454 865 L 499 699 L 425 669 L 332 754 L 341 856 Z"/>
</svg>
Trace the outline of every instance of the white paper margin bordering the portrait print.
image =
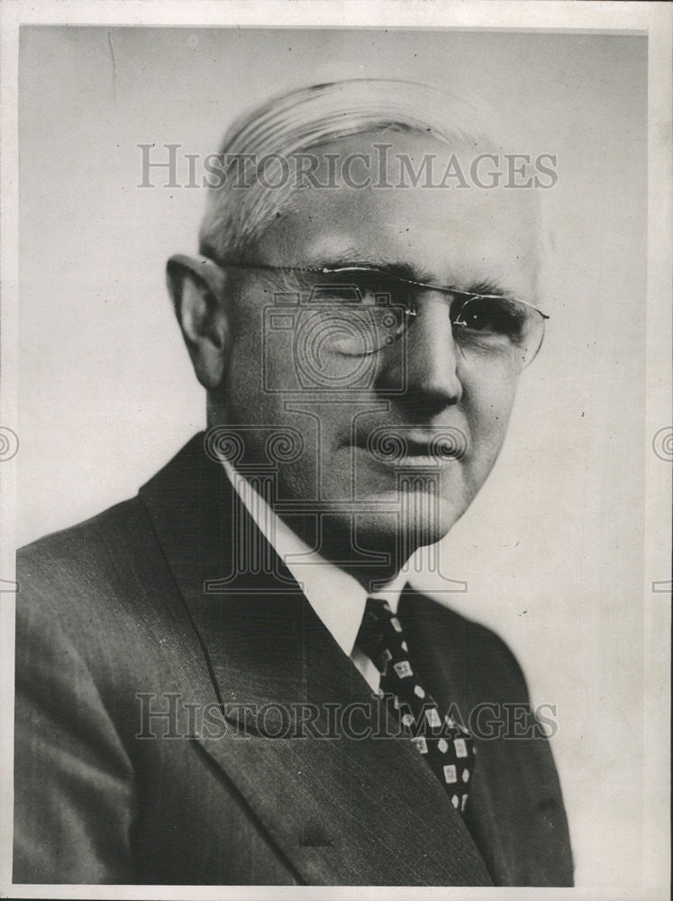
<svg viewBox="0 0 673 901">
<path fill-rule="evenodd" d="M 670 596 L 652 590 L 670 575 L 671 467 L 652 452 L 652 438 L 671 425 L 671 46 L 673 9 L 663 3 L 539 2 L 539 0 L 3 0 L 0 3 L 0 104 L 2 198 L 0 278 L 2 285 L 2 394 L 0 424 L 16 428 L 18 322 L 18 35 L 21 24 L 125 26 L 241 26 L 447 28 L 498 31 L 621 32 L 649 36 L 649 239 L 647 332 L 646 563 L 643 585 L 646 698 L 645 841 L 642 892 L 620 889 L 414 888 L 414 897 L 459 901 L 487 897 L 521 901 L 656 901 L 668 897 L 670 799 L 668 724 L 670 685 Z M 634 315 L 641 311 L 634 305 Z M 618 388 L 615 387 L 615 390 Z M 15 460 L 2 463 L 0 575 L 14 578 Z M 7 523 L 10 523 L 8 526 Z M 638 598 L 633 603 L 639 603 Z M 14 709 L 14 595 L 0 594 L 0 696 L 5 724 Z M 0 896 L 41 898 L 282 899 L 408 898 L 404 887 L 166 887 L 13 886 L 11 730 L 0 733 Z M 628 803 L 626 787 L 624 803 Z"/>
</svg>

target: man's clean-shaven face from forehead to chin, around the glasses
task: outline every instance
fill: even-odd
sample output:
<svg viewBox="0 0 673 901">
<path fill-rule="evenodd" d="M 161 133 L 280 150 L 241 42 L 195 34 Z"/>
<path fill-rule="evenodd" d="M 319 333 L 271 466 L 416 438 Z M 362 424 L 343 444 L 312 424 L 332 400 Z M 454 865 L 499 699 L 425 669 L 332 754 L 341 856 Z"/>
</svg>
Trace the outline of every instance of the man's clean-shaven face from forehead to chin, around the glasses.
<svg viewBox="0 0 673 901">
<path fill-rule="evenodd" d="M 449 162 L 450 150 L 432 138 L 400 134 L 392 140 L 390 157 L 408 154 L 414 168 L 425 153 L 436 154 L 439 172 Z M 342 159 L 371 153 L 377 141 L 391 136 L 360 134 L 320 152 Z M 469 159 L 460 159 L 468 171 Z M 353 175 L 361 173 L 353 168 Z M 397 179 L 391 161 L 389 180 Z M 531 193 L 461 189 L 455 182 L 450 188 L 353 189 L 341 183 L 305 189 L 264 233 L 249 261 L 395 266 L 434 285 L 534 303 L 538 223 Z M 268 462 L 269 435 L 298 431 L 303 451 L 278 463 L 279 498 L 315 502 L 330 514 L 329 528 L 343 534 L 355 522 L 363 548 L 389 547 L 402 534 L 412 551 L 438 541 L 496 461 L 517 373 L 493 365 L 487 354 L 457 350 L 447 297 L 435 292 L 423 293 L 404 337 L 365 355 L 344 353 L 344 311 L 340 325 L 330 305 L 324 314 L 315 306 L 293 306 L 288 292 L 305 287 L 302 277 L 293 278 L 252 270 L 241 276 L 223 390 L 226 421 L 241 427 L 247 460 Z M 329 276 L 321 278 L 330 283 Z M 348 305 L 344 310 L 350 315 Z M 438 458 L 431 444 L 442 436 L 457 452 Z M 400 459 L 386 447 L 406 451 Z M 420 478 L 409 482 L 414 475 Z"/>
</svg>

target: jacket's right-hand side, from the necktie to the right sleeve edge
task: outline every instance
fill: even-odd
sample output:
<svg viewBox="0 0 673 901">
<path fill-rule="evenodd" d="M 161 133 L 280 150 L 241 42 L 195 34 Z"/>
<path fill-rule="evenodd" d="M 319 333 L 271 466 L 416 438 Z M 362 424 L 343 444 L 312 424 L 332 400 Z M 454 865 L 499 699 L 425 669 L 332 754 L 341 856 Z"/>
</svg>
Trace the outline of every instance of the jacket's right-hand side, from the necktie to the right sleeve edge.
<svg viewBox="0 0 673 901">
<path fill-rule="evenodd" d="M 572 885 L 568 823 L 549 742 L 533 722 L 523 673 L 487 629 L 407 589 L 402 621 L 423 683 L 444 709 L 455 705 L 472 732 L 477 766 L 466 822 L 499 886 Z M 481 710 L 481 713 L 478 711 Z M 477 729 L 475 728 L 477 726 Z M 497 738 L 497 741 L 489 739 Z"/>
</svg>

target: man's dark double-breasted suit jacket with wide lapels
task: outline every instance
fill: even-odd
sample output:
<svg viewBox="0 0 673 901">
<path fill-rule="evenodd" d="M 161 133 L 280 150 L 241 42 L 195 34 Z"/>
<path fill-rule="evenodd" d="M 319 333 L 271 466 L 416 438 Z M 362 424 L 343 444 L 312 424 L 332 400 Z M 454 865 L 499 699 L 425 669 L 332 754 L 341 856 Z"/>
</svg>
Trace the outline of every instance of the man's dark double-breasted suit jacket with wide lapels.
<svg viewBox="0 0 673 901">
<path fill-rule="evenodd" d="M 477 738 L 466 824 L 407 739 L 320 738 L 371 692 L 268 546 L 276 574 L 241 571 L 202 441 L 20 551 L 14 881 L 570 885 L 541 736 Z M 398 616 L 440 705 L 527 703 L 496 635 L 408 587 Z M 306 705 L 318 734 L 293 737 Z"/>
</svg>

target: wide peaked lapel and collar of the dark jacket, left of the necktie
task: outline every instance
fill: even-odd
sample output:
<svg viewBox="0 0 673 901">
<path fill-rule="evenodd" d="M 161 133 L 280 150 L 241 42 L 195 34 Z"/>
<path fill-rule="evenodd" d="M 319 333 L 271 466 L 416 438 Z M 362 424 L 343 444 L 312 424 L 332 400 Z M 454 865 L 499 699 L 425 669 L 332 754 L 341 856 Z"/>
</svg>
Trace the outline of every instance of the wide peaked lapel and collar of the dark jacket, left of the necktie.
<svg viewBox="0 0 673 901">
<path fill-rule="evenodd" d="M 216 699 L 224 715 L 216 734 L 195 735 L 201 752 L 300 881 L 488 885 L 441 785 L 410 742 L 384 737 L 377 699 L 202 441 L 141 489 L 194 630 L 176 655 L 177 679 L 186 697 Z M 237 536 L 255 542 L 255 566 Z"/>
</svg>

